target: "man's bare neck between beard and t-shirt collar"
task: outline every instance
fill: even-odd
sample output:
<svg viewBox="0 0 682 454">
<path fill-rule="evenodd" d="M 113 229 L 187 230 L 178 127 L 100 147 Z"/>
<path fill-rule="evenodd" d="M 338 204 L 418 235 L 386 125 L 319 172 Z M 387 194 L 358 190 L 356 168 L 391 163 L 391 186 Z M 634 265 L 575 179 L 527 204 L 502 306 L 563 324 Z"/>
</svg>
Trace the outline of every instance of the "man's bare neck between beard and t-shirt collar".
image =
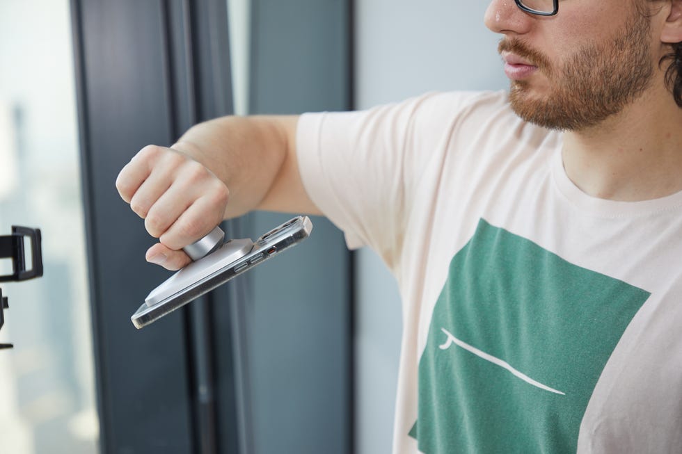
<svg viewBox="0 0 682 454">
<path fill-rule="evenodd" d="M 636 202 L 682 191 L 682 108 L 660 87 L 596 127 L 564 134 L 566 175 L 583 192 Z"/>
</svg>

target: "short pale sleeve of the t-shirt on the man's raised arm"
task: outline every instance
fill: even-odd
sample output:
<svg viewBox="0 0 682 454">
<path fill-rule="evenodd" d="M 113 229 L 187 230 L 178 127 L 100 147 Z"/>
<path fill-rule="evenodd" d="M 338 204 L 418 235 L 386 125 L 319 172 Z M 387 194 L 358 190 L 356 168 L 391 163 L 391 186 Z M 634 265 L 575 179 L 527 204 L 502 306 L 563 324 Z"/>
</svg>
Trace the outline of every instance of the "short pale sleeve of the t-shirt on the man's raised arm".
<svg viewBox="0 0 682 454">
<path fill-rule="evenodd" d="M 473 93 L 429 93 L 367 111 L 306 113 L 296 153 L 303 186 L 346 236 L 392 268 L 404 241 L 415 186 L 443 149 Z"/>
</svg>

